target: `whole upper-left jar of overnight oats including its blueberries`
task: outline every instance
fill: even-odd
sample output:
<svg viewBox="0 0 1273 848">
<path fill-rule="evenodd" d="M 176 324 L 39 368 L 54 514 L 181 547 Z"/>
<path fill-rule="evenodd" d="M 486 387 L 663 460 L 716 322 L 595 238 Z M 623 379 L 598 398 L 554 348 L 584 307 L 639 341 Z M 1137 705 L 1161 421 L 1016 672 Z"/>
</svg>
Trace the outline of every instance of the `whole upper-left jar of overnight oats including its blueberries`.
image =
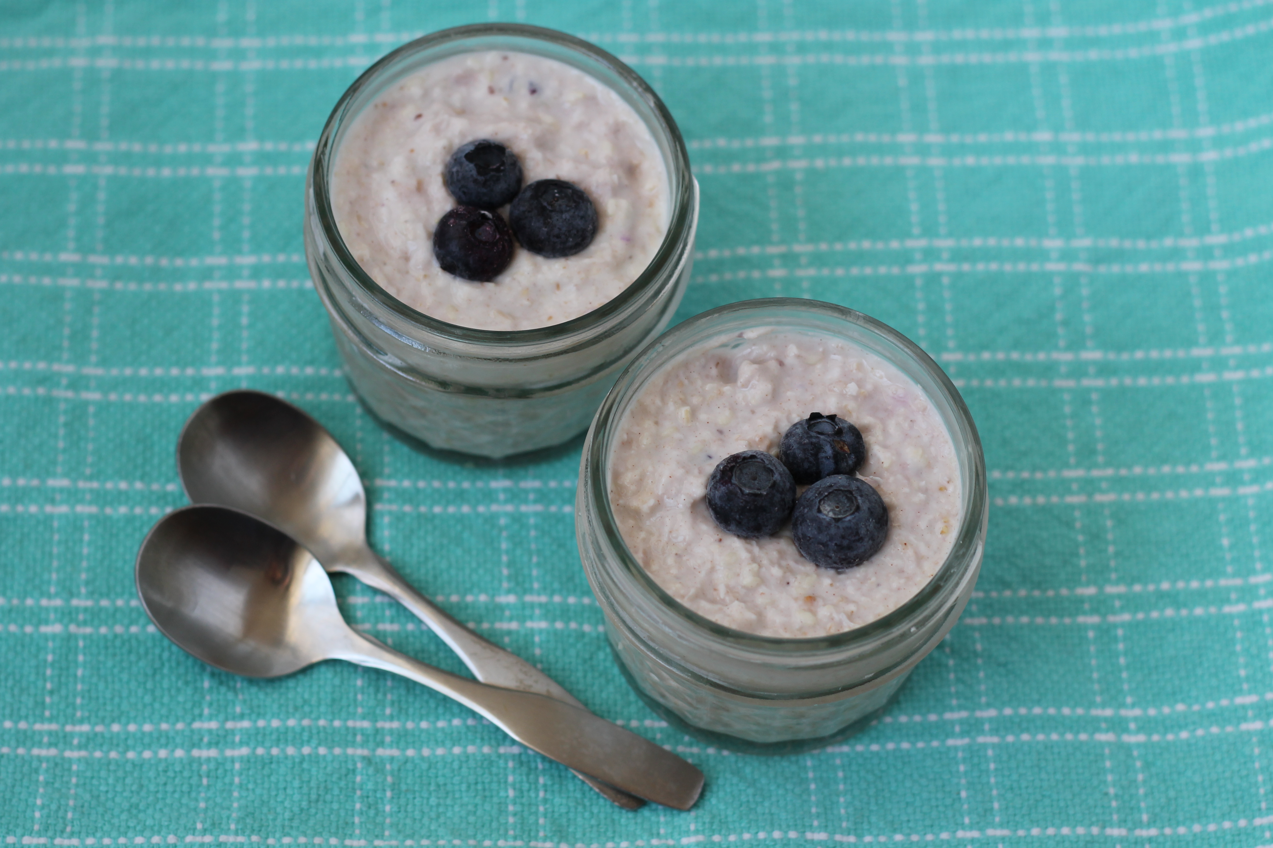
<svg viewBox="0 0 1273 848">
<path fill-rule="evenodd" d="M 369 69 L 314 151 L 306 252 L 345 373 L 409 441 L 561 442 L 675 311 L 698 187 L 658 97 L 536 27 L 461 27 Z"/>
</svg>

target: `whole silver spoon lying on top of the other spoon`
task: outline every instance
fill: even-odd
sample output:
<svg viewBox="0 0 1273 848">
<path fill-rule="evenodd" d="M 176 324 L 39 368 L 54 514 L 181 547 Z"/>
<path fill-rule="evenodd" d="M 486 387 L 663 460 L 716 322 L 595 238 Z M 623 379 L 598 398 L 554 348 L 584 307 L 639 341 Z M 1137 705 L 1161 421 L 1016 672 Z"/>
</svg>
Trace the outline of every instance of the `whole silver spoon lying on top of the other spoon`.
<svg viewBox="0 0 1273 848">
<path fill-rule="evenodd" d="M 164 636 L 200 660 L 278 678 L 322 660 L 400 674 L 458 701 L 527 748 L 626 792 L 689 810 L 703 773 L 654 742 L 545 695 L 461 678 L 345 623 L 313 554 L 250 515 L 187 506 L 137 553 L 137 595 Z"/>
</svg>

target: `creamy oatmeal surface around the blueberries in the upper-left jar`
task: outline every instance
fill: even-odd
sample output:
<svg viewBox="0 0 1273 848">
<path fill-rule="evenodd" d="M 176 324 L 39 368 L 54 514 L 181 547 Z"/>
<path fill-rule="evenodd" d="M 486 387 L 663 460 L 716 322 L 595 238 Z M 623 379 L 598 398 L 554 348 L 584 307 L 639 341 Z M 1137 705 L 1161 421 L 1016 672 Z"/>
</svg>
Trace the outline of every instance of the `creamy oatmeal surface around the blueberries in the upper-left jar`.
<svg viewBox="0 0 1273 848">
<path fill-rule="evenodd" d="M 524 184 L 586 191 L 600 219 L 592 243 L 561 259 L 518 249 L 491 282 L 442 271 L 433 229 L 456 205 L 443 170 L 476 139 L 516 153 Z M 633 108 L 530 53 L 461 53 L 393 84 L 350 127 L 331 179 L 336 226 L 363 270 L 426 315 L 481 329 L 547 327 L 601 306 L 645 270 L 668 221 L 663 159 Z"/>
</svg>

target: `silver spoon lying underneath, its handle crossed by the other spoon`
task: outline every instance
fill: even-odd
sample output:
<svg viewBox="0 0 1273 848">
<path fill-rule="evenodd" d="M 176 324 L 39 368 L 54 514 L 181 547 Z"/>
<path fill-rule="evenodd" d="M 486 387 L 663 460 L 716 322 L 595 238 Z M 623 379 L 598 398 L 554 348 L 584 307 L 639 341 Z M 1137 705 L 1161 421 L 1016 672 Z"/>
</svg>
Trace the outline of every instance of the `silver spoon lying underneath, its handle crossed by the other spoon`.
<svg viewBox="0 0 1273 848">
<path fill-rule="evenodd" d="M 354 463 L 322 425 L 286 400 L 250 390 L 207 400 L 181 431 L 177 470 L 192 502 L 255 515 L 313 552 L 328 572 L 351 575 L 397 600 L 482 683 L 583 707 L 552 678 L 434 605 L 372 551 Z M 640 798 L 579 777 L 624 809 L 642 806 Z"/>
</svg>

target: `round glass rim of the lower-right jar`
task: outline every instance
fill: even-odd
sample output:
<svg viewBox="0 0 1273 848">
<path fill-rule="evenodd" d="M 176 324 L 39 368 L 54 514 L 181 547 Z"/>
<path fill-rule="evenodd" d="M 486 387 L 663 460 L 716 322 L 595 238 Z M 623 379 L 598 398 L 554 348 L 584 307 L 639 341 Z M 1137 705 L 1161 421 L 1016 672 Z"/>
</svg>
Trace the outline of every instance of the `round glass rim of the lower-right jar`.
<svg viewBox="0 0 1273 848">
<path fill-rule="evenodd" d="M 959 432 L 952 432 L 951 439 L 955 441 L 956 449 L 961 449 L 967 455 L 967 478 L 965 479 L 964 491 L 961 492 L 962 510 L 960 515 L 959 531 L 955 535 L 955 543 L 951 545 L 950 553 L 946 556 L 946 559 L 942 562 L 933 577 L 918 592 L 896 609 L 886 613 L 873 622 L 863 624 L 862 627 L 841 631 L 839 633 L 831 633 L 829 636 L 787 638 L 749 633 L 746 631 L 740 631 L 726 624 L 721 624 L 719 622 L 714 622 L 672 598 L 672 595 L 659 586 L 649 572 L 645 571 L 640 562 L 638 562 L 619 530 L 619 524 L 615 519 L 610 502 L 608 477 L 611 451 L 608 450 L 608 445 L 611 440 L 598 436 L 598 434 L 606 434 L 617 426 L 620 417 L 626 413 L 629 406 L 629 403 L 625 403 L 624 408 L 619 408 L 620 400 L 629 399 L 624 395 L 628 394 L 628 389 L 643 375 L 645 366 L 652 359 L 656 357 L 656 355 L 666 351 L 667 348 L 673 348 L 672 352 L 668 353 L 662 362 L 659 362 L 659 366 L 663 367 L 675 360 L 675 357 L 694 347 L 694 343 L 685 343 L 685 339 L 691 337 L 694 331 L 704 323 L 724 315 L 757 313 L 755 325 L 763 327 L 770 323 L 763 319 L 764 311 L 774 309 L 797 311 L 805 310 L 817 313 L 827 318 L 840 319 L 883 337 L 886 341 L 899 347 L 925 373 L 929 379 L 932 379 L 933 384 L 941 393 L 942 399 L 955 413 L 955 425 Z M 724 331 L 722 331 L 722 333 Z M 699 339 L 695 343 L 703 343 L 707 339 Z M 878 351 L 872 352 L 881 355 Z M 890 360 L 886 357 L 886 361 Z M 896 365 L 896 362 L 891 364 Z M 981 440 L 978 435 L 976 425 L 973 422 L 973 416 L 969 412 L 967 406 L 964 403 L 964 399 L 960 397 L 955 384 L 948 376 L 946 376 L 946 373 L 941 369 L 941 366 L 938 366 L 937 362 L 933 361 L 933 359 L 928 356 L 928 353 L 925 353 L 918 345 L 883 322 L 836 304 L 819 300 L 806 300 L 801 297 L 764 297 L 756 300 L 742 300 L 699 313 L 681 324 L 677 324 L 672 329 L 663 333 L 659 338 L 647 345 L 645 348 L 642 350 L 642 352 L 638 353 L 636 357 L 628 365 L 628 367 L 624 369 L 622 374 L 619 375 L 615 385 L 611 388 L 606 399 L 597 409 L 597 414 L 592 422 L 592 428 L 588 432 L 588 441 L 584 446 L 584 462 L 587 463 L 588 474 L 587 489 L 591 501 L 588 506 L 597 519 L 602 538 L 610 544 L 611 552 L 617 557 L 622 571 L 636 581 L 638 587 L 648 591 L 658 603 L 675 613 L 684 622 L 689 623 L 693 628 L 704 631 L 709 636 L 726 639 L 731 645 L 740 648 L 756 651 L 761 655 L 791 657 L 793 655 L 820 655 L 829 651 L 853 651 L 857 647 L 868 646 L 877 642 L 880 638 L 900 633 L 908 628 L 914 629 L 917 626 L 915 619 L 924 614 L 924 612 L 931 606 L 931 603 L 934 599 L 951 594 L 956 590 L 967 571 L 980 562 L 980 557 L 975 554 L 981 545 L 989 498 L 987 492 L 985 459 L 981 453 Z"/>
</svg>

